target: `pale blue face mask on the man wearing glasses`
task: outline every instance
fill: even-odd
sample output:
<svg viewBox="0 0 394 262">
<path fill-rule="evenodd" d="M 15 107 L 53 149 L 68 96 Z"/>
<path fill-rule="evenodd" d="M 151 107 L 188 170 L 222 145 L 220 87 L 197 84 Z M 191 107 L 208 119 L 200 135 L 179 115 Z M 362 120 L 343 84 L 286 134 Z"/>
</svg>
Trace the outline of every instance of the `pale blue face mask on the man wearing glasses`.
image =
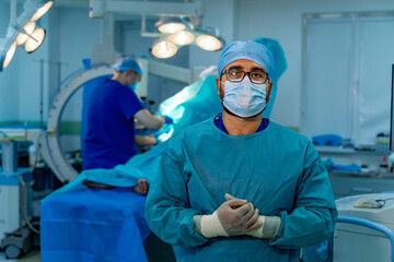
<svg viewBox="0 0 394 262">
<path fill-rule="evenodd" d="M 254 84 L 248 78 L 242 82 L 224 82 L 223 106 L 239 117 L 253 117 L 267 106 L 267 85 Z"/>
</svg>

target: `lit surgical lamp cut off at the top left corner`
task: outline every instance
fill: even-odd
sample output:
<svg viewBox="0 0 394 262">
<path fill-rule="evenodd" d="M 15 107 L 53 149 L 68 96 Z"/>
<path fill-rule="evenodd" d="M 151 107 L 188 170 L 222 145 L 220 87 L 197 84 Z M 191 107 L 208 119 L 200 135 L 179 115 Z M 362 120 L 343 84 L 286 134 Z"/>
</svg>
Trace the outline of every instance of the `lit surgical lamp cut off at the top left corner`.
<svg viewBox="0 0 394 262">
<path fill-rule="evenodd" d="M 27 0 L 23 4 L 23 12 L 16 19 L 18 0 L 10 1 L 10 24 L 5 37 L 0 39 L 0 71 L 10 64 L 16 45 L 24 44 L 24 49 L 31 53 L 43 44 L 46 32 L 36 27 L 35 21 L 53 7 L 53 2 L 51 0 Z"/>
</svg>

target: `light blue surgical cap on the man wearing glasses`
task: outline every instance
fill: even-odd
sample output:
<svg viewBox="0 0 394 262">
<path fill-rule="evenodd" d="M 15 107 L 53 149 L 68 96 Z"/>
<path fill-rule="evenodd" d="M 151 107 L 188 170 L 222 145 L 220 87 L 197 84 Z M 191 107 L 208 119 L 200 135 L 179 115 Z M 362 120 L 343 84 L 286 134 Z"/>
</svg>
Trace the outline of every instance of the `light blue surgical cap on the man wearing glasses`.
<svg viewBox="0 0 394 262">
<path fill-rule="evenodd" d="M 275 60 L 273 53 L 264 45 L 250 40 L 233 41 L 224 48 L 218 63 L 219 76 L 225 66 L 240 59 L 247 59 L 260 64 L 267 70 L 270 79 L 275 75 Z"/>
</svg>

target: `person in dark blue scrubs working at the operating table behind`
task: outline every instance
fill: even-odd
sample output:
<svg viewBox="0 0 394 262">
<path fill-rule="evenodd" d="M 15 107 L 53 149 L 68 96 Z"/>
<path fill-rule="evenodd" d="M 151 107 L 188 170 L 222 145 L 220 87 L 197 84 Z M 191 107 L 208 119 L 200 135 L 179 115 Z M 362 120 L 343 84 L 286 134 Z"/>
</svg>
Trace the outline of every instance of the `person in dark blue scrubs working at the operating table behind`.
<svg viewBox="0 0 394 262">
<path fill-rule="evenodd" d="M 115 73 L 94 90 L 88 111 L 88 133 L 84 140 L 83 169 L 112 169 L 137 154 L 137 145 L 154 145 L 153 135 L 136 135 L 135 119 L 148 129 L 159 130 L 172 122 L 164 116 L 152 115 L 137 97 L 135 90 L 142 70 L 132 58 L 123 58 L 114 64 Z M 101 187 L 85 182 L 89 187 Z M 146 193 L 147 181 L 141 179 L 137 191 Z"/>
</svg>

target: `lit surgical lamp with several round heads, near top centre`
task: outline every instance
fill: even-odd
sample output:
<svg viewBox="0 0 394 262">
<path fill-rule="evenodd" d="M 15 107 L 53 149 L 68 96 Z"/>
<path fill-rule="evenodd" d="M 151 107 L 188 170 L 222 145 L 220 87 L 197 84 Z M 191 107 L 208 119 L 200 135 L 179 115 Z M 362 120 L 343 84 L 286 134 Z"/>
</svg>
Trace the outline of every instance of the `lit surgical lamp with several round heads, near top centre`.
<svg viewBox="0 0 394 262">
<path fill-rule="evenodd" d="M 219 36 L 218 29 L 195 28 L 184 19 L 178 19 L 178 21 L 174 17 L 162 19 L 157 26 L 163 35 L 153 43 L 152 55 L 161 59 L 173 57 L 178 46 L 193 43 L 207 51 L 218 51 L 224 47 L 224 40 Z"/>
</svg>

